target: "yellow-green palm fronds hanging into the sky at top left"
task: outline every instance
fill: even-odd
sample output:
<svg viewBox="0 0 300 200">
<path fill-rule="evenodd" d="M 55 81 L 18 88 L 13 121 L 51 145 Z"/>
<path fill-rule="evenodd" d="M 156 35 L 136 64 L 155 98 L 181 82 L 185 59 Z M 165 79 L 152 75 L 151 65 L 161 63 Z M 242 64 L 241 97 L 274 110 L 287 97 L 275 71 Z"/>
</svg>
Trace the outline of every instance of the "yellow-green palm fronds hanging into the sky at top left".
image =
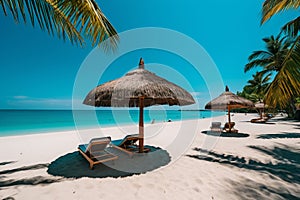
<svg viewBox="0 0 300 200">
<path fill-rule="evenodd" d="M 72 44 L 84 45 L 88 38 L 92 45 L 103 44 L 105 49 L 115 49 L 118 35 L 104 16 L 95 0 L 0 0 L 4 15 L 11 16 L 16 22 L 30 21 L 50 35 L 56 34 Z"/>
</svg>

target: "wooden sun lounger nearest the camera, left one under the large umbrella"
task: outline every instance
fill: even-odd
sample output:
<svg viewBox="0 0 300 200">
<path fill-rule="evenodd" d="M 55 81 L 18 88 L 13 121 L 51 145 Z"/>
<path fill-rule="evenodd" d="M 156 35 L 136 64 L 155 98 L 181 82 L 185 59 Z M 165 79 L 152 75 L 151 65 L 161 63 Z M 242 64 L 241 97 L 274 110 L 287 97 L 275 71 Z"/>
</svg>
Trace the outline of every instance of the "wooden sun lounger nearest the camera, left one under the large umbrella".
<svg viewBox="0 0 300 200">
<path fill-rule="evenodd" d="M 110 137 L 94 138 L 89 144 L 78 146 L 79 152 L 90 163 L 90 168 L 94 165 L 115 160 L 118 156 L 106 151 L 107 145 L 111 142 Z"/>
</svg>

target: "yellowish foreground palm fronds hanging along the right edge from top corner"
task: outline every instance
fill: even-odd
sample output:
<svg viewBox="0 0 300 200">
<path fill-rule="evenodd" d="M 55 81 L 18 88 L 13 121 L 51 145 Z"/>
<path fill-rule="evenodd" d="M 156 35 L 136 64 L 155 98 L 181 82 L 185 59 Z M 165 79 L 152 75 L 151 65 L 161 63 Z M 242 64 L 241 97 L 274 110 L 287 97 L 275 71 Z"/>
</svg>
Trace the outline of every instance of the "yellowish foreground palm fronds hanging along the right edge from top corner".
<svg viewBox="0 0 300 200">
<path fill-rule="evenodd" d="M 263 24 L 273 15 L 287 9 L 298 9 L 300 0 L 266 0 L 262 9 Z M 300 17 L 293 19 L 282 27 L 290 37 L 295 38 L 282 62 L 282 68 L 276 74 L 268 88 L 265 100 L 272 105 L 295 109 L 294 99 L 300 96 Z"/>
</svg>

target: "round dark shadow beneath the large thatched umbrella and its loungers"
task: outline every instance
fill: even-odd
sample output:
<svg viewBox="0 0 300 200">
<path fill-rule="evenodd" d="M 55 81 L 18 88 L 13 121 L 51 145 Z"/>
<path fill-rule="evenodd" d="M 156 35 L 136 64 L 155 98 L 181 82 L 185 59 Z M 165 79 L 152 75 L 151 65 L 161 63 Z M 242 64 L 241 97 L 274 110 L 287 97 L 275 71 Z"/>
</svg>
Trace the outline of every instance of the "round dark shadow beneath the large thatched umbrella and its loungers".
<svg viewBox="0 0 300 200">
<path fill-rule="evenodd" d="M 157 147 L 147 146 L 151 151 L 144 154 L 135 154 L 132 158 L 115 148 L 109 151 L 118 155 L 118 159 L 105 162 L 89 168 L 89 163 L 79 154 L 78 151 L 66 154 L 53 161 L 48 166 L 48 173 L 54 176 L 65 178 L 106 178 L 126 177 L 134 174 L 142 174 L 167 165 L 170 155 L 167 151 Z"/>
</svg>

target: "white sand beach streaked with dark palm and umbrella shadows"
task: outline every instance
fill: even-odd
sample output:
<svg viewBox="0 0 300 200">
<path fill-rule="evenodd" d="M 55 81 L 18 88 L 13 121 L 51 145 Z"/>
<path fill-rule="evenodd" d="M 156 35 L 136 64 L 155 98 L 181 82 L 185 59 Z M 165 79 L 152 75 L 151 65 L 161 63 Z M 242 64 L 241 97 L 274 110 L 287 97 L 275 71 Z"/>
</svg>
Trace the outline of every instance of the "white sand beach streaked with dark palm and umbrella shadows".
<svg viewBox="0 0 300 200">
<path fill-rule="evenodd" d="M 0 199 L 299 198 L 300 122 L 250 123 L 255 117 L 232 117 L 248 137 L 202 133 L 212 121 L 224 123 L 225 116 L 147 125 L 145 143 L 161 150 L 130 159 L 113 149 L 120 159 L 107 165 L 114 169 L 90 170 L 78 144 L 101 135 L 119 139 L 137 133 L 136 126 L 1 137 Z"/>
</svg>

